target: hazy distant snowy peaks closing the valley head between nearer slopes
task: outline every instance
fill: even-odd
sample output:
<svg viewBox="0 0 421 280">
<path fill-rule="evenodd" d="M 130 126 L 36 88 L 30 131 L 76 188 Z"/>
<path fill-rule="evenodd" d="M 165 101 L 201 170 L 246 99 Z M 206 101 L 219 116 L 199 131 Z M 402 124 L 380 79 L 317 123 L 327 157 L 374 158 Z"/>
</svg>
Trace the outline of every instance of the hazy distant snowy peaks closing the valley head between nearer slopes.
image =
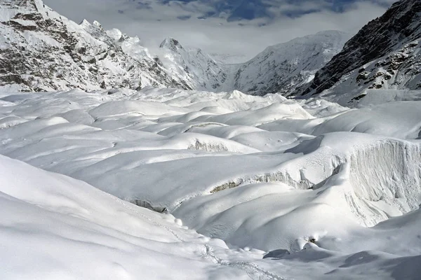
<svg viewBox="0 0 421 280">
<path fill-rule="evenodd" d="M 340 31 L 321 31 L 314 35 L 272 45 L 248 62 L 225 64 L 203 50 L 184 48 L 167 38 L 161 43 L 160 59 L 172 76 L 185 80 L 196 90 L 241 90 L 264 95 L 288 94 L 308 83 L 349 38 Z"/>
</svg>

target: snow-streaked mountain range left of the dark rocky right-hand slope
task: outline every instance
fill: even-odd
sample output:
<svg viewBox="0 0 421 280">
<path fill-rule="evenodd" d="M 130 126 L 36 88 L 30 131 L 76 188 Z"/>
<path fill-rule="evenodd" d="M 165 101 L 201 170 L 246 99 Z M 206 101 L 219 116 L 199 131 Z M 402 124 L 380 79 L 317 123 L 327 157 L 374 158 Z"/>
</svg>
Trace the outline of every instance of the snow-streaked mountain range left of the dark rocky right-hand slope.
<svg viewBox="0 0 421 280">
<path fill-rule="evenodd" d="M 2 1 L 0 10 L 2 90 L 139 90 L 152 85 L 288 94 L 311 81 L 348 38 L 323 31 L 273 45 L 248 62 L 229 64 L 173 38 L 166 38 L 152 56 L 140 38 L 118 29 L 105 31 L 99 22 L 78 25 L 41 0 Z"/>
</svg>

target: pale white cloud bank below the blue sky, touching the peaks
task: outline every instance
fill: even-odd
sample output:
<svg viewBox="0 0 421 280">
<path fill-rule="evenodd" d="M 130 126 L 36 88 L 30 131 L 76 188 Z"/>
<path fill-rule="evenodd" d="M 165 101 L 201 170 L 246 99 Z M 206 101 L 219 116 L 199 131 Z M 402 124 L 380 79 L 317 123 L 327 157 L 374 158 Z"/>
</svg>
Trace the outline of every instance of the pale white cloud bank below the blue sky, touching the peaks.
<svg viewBox="0 0 421 280">
<path fill-rule="evenodd" d="M 377 0 L 392 3 L 393 0 Z M 138 2 L 121 0 L 44 0 L 59 13 L 79 22 L 86 18 L 98 20 L 106 29 L 119 28 L 134 36 L 138 35 L 152 52 L 163 38 L 177 38 L 183 45 L 202 48 L 207 52 L 245 55 L 251 58 L 268 45 L 283 43 L 298 36 L 314 34 L 322 30 L 341 30 L 355 34 L 369 20 L 382 15 L 385 6 L 368 1 L 357 1 L 342 13 L 323 9 L 323 1 L 305 1 L 302 10 L 321 8 L 298 18 L 283 16 L 281 11 L 296 8 L 290 4 L 272 8 L 276 18 L 269 22 L 258 19 L 227 22 L 224 18 L 199 20 L 203 11 L 211 11 L 203 3 L 175 3 L 159 5 L 157 1 L 143 1 L 150 8 L 136 8 Z M 121 10 L 123 13 L 118 13 Z M 179 20 L 180 15 L 191 15 Z M 267 25 L 259 27 L 262 23 Z M 239 25 L 241 24 L 241 25 Z"/>
</svg>

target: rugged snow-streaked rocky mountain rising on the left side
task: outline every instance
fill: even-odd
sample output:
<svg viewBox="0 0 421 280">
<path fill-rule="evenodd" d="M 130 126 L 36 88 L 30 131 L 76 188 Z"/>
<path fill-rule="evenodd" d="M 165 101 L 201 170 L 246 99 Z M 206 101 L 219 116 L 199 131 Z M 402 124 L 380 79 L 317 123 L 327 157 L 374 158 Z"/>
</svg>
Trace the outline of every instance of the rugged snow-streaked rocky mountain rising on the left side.
<svg viewBox="0 0 421 280">
<path fill-rule="evenodd" d="M 84 20 L 77 25 L 41 0 L 1 1 L 0 10 L 0 87 L 23 91 L 189 88 L 147 52 L 137 57 L 124 52 L 133 49 L 136 40 L 122 34 L 116 37 L 115 31 L 111 36 L 98 22 Z"/>
</svg>

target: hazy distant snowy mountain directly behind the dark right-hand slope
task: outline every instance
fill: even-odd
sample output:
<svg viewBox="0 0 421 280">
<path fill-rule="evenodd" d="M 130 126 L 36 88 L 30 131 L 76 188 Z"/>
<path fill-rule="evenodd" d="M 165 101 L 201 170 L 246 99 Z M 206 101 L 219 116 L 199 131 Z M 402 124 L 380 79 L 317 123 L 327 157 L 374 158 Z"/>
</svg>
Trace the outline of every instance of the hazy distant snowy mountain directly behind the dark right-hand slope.
<svg viewBox="0 0 421 280">
<path fill-rule="evenodd" d="M 272 45 L 239 66 L 234 88 L 243 92 L 288 94 L 308 83 L 342 49 L 349 35 L 321 31 L 314 35 Z"/>
</svg>

